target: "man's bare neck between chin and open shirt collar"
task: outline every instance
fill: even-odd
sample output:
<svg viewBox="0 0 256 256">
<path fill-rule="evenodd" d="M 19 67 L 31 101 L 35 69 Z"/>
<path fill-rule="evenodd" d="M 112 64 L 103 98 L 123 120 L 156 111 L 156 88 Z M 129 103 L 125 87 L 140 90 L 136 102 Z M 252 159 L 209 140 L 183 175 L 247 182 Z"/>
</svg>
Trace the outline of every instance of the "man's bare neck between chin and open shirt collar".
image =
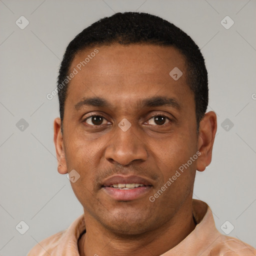
<svg viewBox="0 0 256 256">
<path fill-rule="evenodd" d="M 117 235 L 84 212 L 86 233 L 79 240 L 81 256 L 160 255 L 182 241 L 194 228 L 192 203 L 182 207 L 164 225 L 139 235 Z"/>
</svg>

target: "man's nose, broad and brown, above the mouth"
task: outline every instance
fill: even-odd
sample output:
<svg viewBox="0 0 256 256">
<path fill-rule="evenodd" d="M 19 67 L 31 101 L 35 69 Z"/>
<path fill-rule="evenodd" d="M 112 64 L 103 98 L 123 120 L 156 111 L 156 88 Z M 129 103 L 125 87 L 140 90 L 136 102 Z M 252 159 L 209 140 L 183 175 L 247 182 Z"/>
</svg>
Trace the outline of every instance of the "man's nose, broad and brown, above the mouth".
<svg viewBox="0 0 256 256">
<path fill-rule="evenodd" d="M 114 135 L 106 145 L 105 159 L 121 165 L 129 165 L 134 160 L 146 160 L 146 145 L 142 141 L 139 131 L 135 131 L 134 125 L 131 125 L 126 131 L 116 126 L 113 132 Z"/>
</svg>

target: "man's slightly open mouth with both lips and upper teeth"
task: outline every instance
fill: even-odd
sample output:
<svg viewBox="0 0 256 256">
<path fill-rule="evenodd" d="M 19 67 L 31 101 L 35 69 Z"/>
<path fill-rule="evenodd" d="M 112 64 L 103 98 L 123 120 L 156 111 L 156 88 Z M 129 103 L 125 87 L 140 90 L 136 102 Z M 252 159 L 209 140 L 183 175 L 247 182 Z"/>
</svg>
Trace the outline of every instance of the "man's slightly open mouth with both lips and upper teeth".
<svg viewBox="0 0 256 256">
<path fill-rule="evenodd" d="M 114 200 L 131 201 L 148 193 L 152 183 L 140 176 L 115 175 L 107 178 L 101 188 Z"/>
</svg>

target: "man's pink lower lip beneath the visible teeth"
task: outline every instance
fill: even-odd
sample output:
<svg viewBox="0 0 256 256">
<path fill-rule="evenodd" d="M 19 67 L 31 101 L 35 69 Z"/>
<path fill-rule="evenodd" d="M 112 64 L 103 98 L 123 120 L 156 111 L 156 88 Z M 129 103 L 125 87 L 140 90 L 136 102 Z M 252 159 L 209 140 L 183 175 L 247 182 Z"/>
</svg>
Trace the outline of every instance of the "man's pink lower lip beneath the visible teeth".
<svg viewBox="0 0 256 256">
<path fill-rule="evenodd" d="M 110 195 L 115 200 L 131 201 L 139 197 L 142 197 L 151 189 L 151 186 L 139 186 L 129 189 L 118 189 L 110 186 L 104 186 L 103 189 L 104 191 L 106 191 L 108 195 Z"/>
</svg>

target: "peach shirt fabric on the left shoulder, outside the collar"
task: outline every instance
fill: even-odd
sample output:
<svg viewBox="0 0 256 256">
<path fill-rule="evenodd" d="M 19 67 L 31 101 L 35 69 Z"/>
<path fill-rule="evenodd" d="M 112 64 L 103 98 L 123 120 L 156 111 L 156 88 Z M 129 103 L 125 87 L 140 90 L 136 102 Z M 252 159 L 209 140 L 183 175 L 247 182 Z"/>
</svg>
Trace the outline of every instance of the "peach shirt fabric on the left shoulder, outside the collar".
<svg viewBox="0 0 256 256">
<path fill-rule="evenodd" d="M 27 256 L 48 256 L 58 245 L 59 239 L 62 237 L 65 230 L 57 232 L 42 241 L 38 242 L 27 254 Z"/>
</svg>

